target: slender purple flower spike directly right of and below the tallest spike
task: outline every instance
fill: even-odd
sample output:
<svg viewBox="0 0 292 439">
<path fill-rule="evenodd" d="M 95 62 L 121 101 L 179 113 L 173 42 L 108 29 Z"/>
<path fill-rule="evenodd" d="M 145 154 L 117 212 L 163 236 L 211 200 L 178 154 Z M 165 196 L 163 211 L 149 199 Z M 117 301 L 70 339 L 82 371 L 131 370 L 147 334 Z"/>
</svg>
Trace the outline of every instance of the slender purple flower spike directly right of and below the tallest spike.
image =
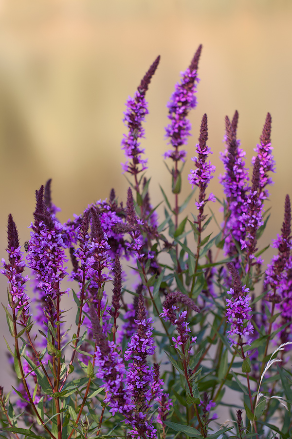
<svg viewBox="0 0 292 439">
<path fill-rule="evenodd" d="M 196 201 L 197 209 L 200 211 L 200 219 L 202 220 L 204 205 L 207 201 L 215 201 L 214 195 L 211 193 L 206 200 L 205 190 L 213 179 L 211 175 L 215 172 L 216 166 L 211 164 L 211 161 L 207 162 L 208 154 L 213 154 L 211 149 L 207 146 L 206 142 L 208 140 L 208 125 L 207 125 L 207 115 L 204 114 L 201 121 L 201 130 L 199 143 L 196 145 L 199 157 L 193 157 L 192 160 L 195 162 L 196 170 L 191 170 L 188 176 L 189 182 L 194 186 L 198 186 L 200 189 L 199 201 Z"/>
</svg>

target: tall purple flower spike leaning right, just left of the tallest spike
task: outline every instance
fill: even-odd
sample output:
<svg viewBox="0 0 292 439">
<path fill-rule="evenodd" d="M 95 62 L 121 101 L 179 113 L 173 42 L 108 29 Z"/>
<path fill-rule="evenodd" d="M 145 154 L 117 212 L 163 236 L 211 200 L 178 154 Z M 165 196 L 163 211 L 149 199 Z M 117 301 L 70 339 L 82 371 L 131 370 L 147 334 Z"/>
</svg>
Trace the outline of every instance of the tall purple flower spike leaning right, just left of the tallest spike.
<svg viewBox="0 0 292 439">
<path fill-rule="evenodd" d="M 145 137 L 145 130 L 142 127 L 142 122 L 145 120 L 146 114 L 148 114 L 148 104 L 145 100 L 145 94 L 159 61 L 160 56 L 158 56 L 150 66 L 141 81 L 134 98 L 128 98 L 126 104 L 127 110 L 124 113 L 125 117 L 123 121 L 125 125 L 128 126 L 129 132 L 127 135 L 124 134 L 122 149 L 124 149 L 127 159 L 130 159 L 131 161 L 129 162 L 127 160 L 125 164 L 122 164 L 122 167 L 124 172 L 129 172 L 134 176 L 147 169 L 147 159 L 142 159 L 142 154 L 144 154 L 145 150 L 140 148 L 140 142 L 138 139 Z"/>
</svg>

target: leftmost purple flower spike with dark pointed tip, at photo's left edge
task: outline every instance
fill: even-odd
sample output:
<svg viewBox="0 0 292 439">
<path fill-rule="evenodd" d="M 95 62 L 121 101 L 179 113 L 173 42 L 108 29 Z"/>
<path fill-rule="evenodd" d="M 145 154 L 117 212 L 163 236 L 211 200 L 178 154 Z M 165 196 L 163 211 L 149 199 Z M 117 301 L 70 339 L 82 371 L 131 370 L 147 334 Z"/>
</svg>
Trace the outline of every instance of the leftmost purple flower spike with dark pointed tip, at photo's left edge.
<svg viewBox="0 0 292 439">
<path fill-rule="evenodd" d="M 24 313 L 26 313 L 29 306 L 29 297 L 25 293 L 25 283 L 29 278 L 28 276 L 22 276 L 26 264 L 23 260 L 23 253 L 20 251 L 18 231 L 11 214 L 8 217 L 7 235 L 8 246 L 6 251 L 8 253 L 9 263 L 7 264 L 5 259 L 2 259 L 3 270 L 1 270 L 1 273 L 8 279 L 13 302 L 18 302 L 16 309 L 25 305 Z"/>
</svg>

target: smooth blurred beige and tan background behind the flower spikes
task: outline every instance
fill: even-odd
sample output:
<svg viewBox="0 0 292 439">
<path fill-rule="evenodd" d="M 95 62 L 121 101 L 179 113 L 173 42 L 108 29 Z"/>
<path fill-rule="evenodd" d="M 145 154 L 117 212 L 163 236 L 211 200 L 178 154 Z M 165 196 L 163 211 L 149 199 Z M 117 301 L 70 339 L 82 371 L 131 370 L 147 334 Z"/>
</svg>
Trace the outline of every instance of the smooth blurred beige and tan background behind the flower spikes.
<svg viewBox="0 0 292 439">
<path fill-rule="evenodd" d="M 277 173 L 266 203 L 273 209 L 262 245 L 270 243 L 280 232 L 285 195 L 292 195 L 291 29 L 291 0 L 2 0 L 1 257 L 6 258 L 8 214 L 13 214 L 24 243 L 35 190 L 49 178 L 62 221 L 108 197 L 112 187 L 119 200 L 126 200 L 128 182 L 120 165 L 124 103 L 157 55 L 161 62 L 146 94 L 143 146 L 152 203 L 162 199 L 158 183 L 170 194 L 162 158 L 168 149 L 166 103 L 200 43 L 199 104 L 190 114 L 193 137 L 182 199 L 190 191 L 187 174 L 202 115 L 208 115 L 208 145 L 218 168 L 210 190 L 221 198 L 225 115 L 232 118 L 239 112 L 238 138 L 250 166 L 269 111 Z M 269 252 L 267 262 L 273 254 Z M 0 287 L 6 305 L 3 276 Z M 0 313 L 0 331 L 7 334 L 4 311 Z M 1 336 L 0 384 L 5 386 L 10 378 L 4 346 Z"/>
</svg>

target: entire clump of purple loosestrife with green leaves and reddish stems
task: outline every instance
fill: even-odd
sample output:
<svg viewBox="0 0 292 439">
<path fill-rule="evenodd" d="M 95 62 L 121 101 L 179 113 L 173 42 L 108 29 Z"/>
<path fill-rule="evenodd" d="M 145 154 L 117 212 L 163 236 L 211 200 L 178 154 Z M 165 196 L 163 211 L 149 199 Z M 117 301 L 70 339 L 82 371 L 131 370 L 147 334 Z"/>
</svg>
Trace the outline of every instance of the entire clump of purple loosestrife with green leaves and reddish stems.
<svg viewBox="0 0 292 439">
<path fill-rule="evenodd" d="M 200 54 L 201 46 L 169 103 L 166 131 L 173 149 L 165 157 L 174 161 L 174 208 L 163 191 L 165 206 L 158 215 L 150 203 L 150 177 L 142 173 L 145 93 L 158 58 L 125 113 L 124 171 L 134 176 L 134 197 L 129 188 L 118 202 L 111 189 L 109 199 L 84 206 L 62 224 L 48 180 L 37 191 L 29 241 L 18 238 L 9 215 L 8 261 L 2 259 L 1 273 L 8 279 L 4 312 L 12 337 L 6 340 L 7 363 L 16 382 L 11 399 L 0 386 L 1 437 L 292 437 L 288 195 L 281 234 L 273 244 L 277 255 L 266 272 L 259 259 L 265 250 L 267 186 L 274 172 L 270 114 L 252 160 L 251 185 L 237 140 L 238 113 L 225 119 L 222 200 L 217 197 L 223 218 L 216 219 L 221 222 L 217 235 L 208 232 L 216 214 L 206 214 L 215 172 L 208 160 L 214 147 L 207 146 L 206 114 L 189 175 L 199 188 L 192 216 L 184 209 L 193 192 L 178 202 L 184 178 L 178 164 L 186 158 L 182 148 L 190 135 L 187 115 L 196 105 Z M 135 280 L 128 274 L 127 279 L 129 265 Z M 34 291 L 27 293 L 29 268 Z M 74 290 L 66 290 L 73 280 Z M 66 309 L 76 312 L 74 321 L 63 311 L 65 291 L 72 301 Z"/>
</svg>

